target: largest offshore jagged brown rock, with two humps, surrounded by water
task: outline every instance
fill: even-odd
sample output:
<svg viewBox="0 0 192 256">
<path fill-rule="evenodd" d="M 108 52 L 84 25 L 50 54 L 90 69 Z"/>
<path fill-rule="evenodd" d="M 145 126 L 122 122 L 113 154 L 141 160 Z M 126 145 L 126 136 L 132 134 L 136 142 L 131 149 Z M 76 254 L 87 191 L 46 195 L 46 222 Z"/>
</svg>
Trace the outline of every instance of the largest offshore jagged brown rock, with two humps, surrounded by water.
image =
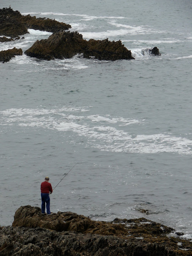
<svg viewBox="0 0 192 256">
<path fill-rule="evenodd" d="M 111 42 L 108 39 L 86 41 L 78 32 L 58 32 L 36 41 L 25 54 L 38 59 L 52 60 L 54 58 L 71 58 L 83 53 L 85 58 L 99 60 L 134 59 L 131 51 L 121 41 Z"/>
</svg>

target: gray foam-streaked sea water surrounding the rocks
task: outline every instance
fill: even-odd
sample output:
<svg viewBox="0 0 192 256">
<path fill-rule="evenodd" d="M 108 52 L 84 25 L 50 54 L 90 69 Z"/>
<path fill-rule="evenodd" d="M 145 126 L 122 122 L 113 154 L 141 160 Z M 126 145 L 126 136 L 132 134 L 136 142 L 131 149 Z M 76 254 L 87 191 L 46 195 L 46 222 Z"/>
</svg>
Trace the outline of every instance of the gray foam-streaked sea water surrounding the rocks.
<svg viewBox="0 0 192 256">
<path fill-rule="evenodd" d="M 0 0 L 9 5 L 87 40 L 120 39 L 135 60 L 0 63 L 0 225 L 21 205 L 41 207 L 44 177 L 54 188 L 76 164 L 52 212 L 145 217 L 192 238 L 191 1 Z M 24 52 L 51 34 L 29 32 L 0 50 Z M 149 54 L 155 46 L 161 56 Z"/>
</svg>

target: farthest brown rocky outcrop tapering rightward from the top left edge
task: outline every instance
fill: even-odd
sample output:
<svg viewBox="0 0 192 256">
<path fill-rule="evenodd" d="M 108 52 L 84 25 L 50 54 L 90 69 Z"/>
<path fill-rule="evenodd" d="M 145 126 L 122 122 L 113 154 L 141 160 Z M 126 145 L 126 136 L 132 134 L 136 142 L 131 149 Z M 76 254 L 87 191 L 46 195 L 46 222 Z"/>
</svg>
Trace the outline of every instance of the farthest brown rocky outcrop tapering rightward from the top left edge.
<svg viewBox="0 0 192 256">
<path fill-rule="evenodd" d="M 12 10 L 11 7 L 0 9 L 0 36 L 17 37 L 28 33 L 28 28 L 55 32 L 68 30 L 71 26 L 49 18 L 24 16 L 19 11 Z"/>
</svg>

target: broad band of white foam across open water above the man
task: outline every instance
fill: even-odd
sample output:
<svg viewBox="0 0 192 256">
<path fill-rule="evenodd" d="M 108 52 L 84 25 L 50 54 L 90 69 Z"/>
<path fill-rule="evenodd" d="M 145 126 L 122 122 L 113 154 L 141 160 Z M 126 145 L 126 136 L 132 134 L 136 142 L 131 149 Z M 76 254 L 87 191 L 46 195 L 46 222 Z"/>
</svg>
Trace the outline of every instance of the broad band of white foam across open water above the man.
<svg viewBox="0 0 192 256">
<path fill-rule="evenodd" d="M 192 140 L 162 133 L 132 136 L 120 127 L 140 124 L 141 121 L 122 117 L 112 118 L 110 115 L 82 115 L 83 112 L 89 111 L 89 107 L 51 110 L 11 108 L 0 112 L 3 115 L 1 125 L 43 127 L 58 130 L 63 134 L 70 131 L 72 136 L 84 136 L 87 146 L 101 151 L 192 154 Z"/>
</svg>

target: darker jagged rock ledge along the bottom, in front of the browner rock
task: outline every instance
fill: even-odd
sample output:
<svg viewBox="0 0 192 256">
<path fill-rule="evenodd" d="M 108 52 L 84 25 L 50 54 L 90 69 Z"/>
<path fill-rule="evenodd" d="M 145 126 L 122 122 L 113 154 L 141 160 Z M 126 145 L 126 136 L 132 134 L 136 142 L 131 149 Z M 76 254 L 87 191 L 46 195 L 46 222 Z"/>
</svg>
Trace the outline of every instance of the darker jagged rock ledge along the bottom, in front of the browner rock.
<svg viewBox="0 0 192 256">
<path fill-rule="evenodd" d="M 114 236 L 56 232 L 42 228 L 4 227 L 0 230 L 1 256 L 177 256 L 178 252 L 157 242 Z M 177 246 L 178 247 L 178 246 Z M 181 254 L 183 253 L 183 254 Z"/>
</svg>

